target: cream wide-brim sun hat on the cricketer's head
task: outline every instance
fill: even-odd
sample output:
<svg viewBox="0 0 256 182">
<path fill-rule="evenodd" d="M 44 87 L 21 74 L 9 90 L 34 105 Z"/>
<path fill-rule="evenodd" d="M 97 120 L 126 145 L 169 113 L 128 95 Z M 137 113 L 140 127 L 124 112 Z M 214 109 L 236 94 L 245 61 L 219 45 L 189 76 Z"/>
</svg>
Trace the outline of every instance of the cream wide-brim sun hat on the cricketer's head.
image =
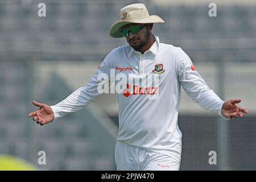
<svg viewBox="0 0 256 182">
<path fill-rule="evenodd" d="M 130 23 L 164 23 L 158 15 L 149 15 L 147 8 L 142 3 L 135 3 L 123 7 L 119 16 L 121 21 L 115 22 L 109 29 L 109 35 L 113 38 L 122 38 L 121 27 Z"/>
</svg>

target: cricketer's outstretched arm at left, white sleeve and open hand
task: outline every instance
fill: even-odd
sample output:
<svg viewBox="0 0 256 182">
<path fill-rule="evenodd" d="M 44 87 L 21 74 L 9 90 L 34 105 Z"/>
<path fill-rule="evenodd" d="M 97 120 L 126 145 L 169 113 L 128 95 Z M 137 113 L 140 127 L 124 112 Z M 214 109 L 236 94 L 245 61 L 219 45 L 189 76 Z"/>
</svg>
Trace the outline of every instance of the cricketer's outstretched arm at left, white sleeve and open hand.
<svg viewBox="0 0 256 182">
<path fill-rule="evenodd" d="M 98 75 L 105 73 L 106 75 L 109 75 L 110 78 L 110 60 L 112 60 L 112 52 L 106 56 L 97 72 L 90 78 L 90 81 L 84 87 L 75 90 L 75 92 L 58 104 L 48 106 L 47 104 L 33 101 L 32 103 L 39 107 L 39 109 L 30 113 L 28 116 L 33 117 L 33 120 L 36 121 L 36 123 L 43 126 L 52 122 L 55 118 L 63 117 L 68 113 L 78 111 L 83 109 L 86 105 L 89 105 L 96 96 L 101 94 L 98 92 L 98 84 L 100 84 L 102 80 L 99 79 Z M 104 80 L 104 82 L 109 81 L 109 79 Z"/>
</svg>

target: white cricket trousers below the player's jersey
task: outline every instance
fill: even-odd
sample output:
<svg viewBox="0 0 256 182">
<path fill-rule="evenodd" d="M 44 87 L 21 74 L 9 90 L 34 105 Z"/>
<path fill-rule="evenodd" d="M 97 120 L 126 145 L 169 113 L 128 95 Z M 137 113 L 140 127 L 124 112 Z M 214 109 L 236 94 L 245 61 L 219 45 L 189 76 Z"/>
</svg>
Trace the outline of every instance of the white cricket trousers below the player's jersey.
<svg viewBox="0 0 256 182">
<path fill-rule="evenodd" d="M 152 152 L 117 141 L 115 164 L 118 171 L 178 171 L 180 162 L 166 154 Z"/>
</svg>

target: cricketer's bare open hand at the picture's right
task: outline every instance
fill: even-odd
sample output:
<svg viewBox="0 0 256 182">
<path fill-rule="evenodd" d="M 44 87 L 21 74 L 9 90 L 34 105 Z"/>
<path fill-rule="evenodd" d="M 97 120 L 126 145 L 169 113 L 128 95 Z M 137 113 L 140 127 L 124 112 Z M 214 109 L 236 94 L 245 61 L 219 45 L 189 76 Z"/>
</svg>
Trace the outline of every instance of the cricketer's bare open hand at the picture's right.
<svg viewBox="0 0 256 182">
<path fill-rule="evenodd" d="M 236 117 L 243 117 L 242 113 L 248 114 L 248 111 L 246 109 L 243 109 L 242 107 L 237 106 L 241 102 L 240 99 L 237 100 L 228 100 L 224 102 L 221 109 L 221 114 L 225 118 L 236 118 Z"/>
</svg>

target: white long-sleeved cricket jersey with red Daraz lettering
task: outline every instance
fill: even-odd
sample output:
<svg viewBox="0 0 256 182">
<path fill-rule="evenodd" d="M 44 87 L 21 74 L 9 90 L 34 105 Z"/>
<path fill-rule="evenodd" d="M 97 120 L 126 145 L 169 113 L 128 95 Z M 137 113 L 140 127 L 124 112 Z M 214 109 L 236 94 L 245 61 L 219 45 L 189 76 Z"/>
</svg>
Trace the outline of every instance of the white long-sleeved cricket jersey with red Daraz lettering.
<svg viewBox="0 0 256 182">
<path fill-rule="evenodd" d="M 127 77 L 157 77 L 158 89 L 149 87 L 140 90 L 140 81 L 139 85 L 127 85 L 127 93 L 118 94 L 117 140 L 180 160 L 182 135 L 177 117 L 181 86 L 193 101 L 221 117 L 224 101 L 209 89 L 181 48 L 159 43 L 159 38 L 155 38 L 155 43 L 143 55 L 129 45 L 113 49 L 84 87 L 77 89 L 59 104 L 51 106 L 54 117 L 80 110 L 93 101 L 100 94 L 97 90 L 101 81 L 98 75 L 106 73 L 110 76 L 110 69 L 115 69 L 116 75 L 124 73 Z M 129 92 L 131 89 L 141 92 Z M 148 95 L 156 92 L 157 99 L 148 99 Z"/>
</svg>

